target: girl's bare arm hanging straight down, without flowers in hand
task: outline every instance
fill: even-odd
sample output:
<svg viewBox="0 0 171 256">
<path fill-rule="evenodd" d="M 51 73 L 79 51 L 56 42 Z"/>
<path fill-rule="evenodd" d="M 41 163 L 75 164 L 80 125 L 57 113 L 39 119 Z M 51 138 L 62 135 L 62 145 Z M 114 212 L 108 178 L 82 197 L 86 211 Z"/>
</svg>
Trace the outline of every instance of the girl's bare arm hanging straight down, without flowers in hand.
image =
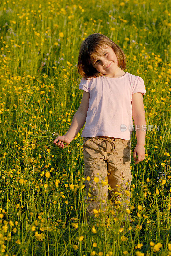
<svg viewBox="0 0 171 256">
<path fill-rule="evenodd" d="M 134 160 L 139 161 L 145 159 L 145 134 L 146 134 L 146 121 L 145 121 L 145 111 L 143 103 L 143 95 L 140 92 L 134 93 L 132 95 L 132 117 L 134 119 L 137 145 L 134 149 L 133 157 Z M 143 128 L 144 127 L 144 128 Z M 136 155 L 138 158 L 136 159 Z"/>
</svg>

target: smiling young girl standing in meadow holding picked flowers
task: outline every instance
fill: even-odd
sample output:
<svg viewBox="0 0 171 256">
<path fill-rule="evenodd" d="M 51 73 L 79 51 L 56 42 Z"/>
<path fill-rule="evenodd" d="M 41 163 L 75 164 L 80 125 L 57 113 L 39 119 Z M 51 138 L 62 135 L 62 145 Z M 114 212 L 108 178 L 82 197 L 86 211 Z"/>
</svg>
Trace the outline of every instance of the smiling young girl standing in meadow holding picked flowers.
<svg viewBox="0 0 171 256">
<path fill-rule="evenodd" d="M 137 137 L 134 161 L 137 164 L 145 159 L 145 86 L 141 77 L 124 69 L 125 54 L 107 36 L 95 33 L 82 42 L 78 56 L 78 73 L 83 77 L 79 84 L 83 90 L 81 104 L 67 133 L 53 142 L 64 149 L 63 142 L 69 145 L 85 124 L 81 136 L 87 206 L 84 216 L 88 222 L 100 208 L 104 212 L 107 199 L 126 213 L 132 182 L 132 117 Z M 126 216 L 123 221 L 127 219 L 131 218 Z"/>
</svg>

